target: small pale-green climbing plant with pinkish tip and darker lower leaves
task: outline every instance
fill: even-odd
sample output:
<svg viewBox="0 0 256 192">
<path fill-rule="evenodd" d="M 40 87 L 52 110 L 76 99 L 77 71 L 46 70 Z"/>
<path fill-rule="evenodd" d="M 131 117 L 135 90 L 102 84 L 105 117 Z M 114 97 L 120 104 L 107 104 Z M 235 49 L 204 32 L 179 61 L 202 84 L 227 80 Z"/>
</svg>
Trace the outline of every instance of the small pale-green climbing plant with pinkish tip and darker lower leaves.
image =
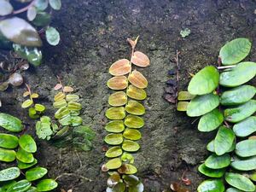
<svg viewBox="0 0 256 192">
<path fill-rule="evenodd" d="M 72 94 L 73 88 L 56 84 L 55 90 L 59 91 L 54 98 L 53 106 L 57 108 L 55 119 L 52 121 L 48 116 L 43 116 L 37 122 L 36 131 L 41 139 L 52 138 L 55 146 L 72 146 L 88 151 L 92 148 L 91 141 L 96 137 L 96 133 L 90 127 L 82 125 L 83 119 L 79 116 L 82 109 L 79 103 L 79 96 Z"/>
</svg>

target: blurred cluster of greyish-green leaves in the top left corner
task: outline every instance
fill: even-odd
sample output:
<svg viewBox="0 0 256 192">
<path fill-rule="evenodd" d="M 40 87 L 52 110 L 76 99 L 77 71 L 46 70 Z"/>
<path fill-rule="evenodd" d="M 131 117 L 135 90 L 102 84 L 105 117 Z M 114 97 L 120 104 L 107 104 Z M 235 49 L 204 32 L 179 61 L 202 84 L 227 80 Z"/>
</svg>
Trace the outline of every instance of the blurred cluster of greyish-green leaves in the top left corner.
<svg viewBox="0 0 256 192">
<path fill-rule="evenodd" d="M 49 44 L 59 44 L 60 34 L 54 27 L 49 26 L 49 23 L 51 9 L 60 10 L 61 0 L 17 0 L 17 2 L 24 4 L 24 8 L 14 10 L 11 2 L 0 0 L 0 48 L 13 48 L 20 57 L 38 66 L 42 61 L 42 52 L 38 49 L 42 46 L 40 33 L 45 31 Z M 26 17 L 22 15 L 24 12 Z"/>
</svg>

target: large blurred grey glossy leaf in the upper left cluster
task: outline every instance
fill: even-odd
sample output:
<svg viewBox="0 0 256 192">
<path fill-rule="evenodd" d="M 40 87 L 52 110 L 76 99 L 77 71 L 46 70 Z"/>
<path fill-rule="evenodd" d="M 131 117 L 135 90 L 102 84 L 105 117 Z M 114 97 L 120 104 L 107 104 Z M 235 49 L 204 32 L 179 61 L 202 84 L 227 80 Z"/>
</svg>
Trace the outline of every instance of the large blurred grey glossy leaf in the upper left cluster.
<svg viewBox="0 0 256 192">
<path fill-rule="evenodd" d="M 26 20 L 18 17 L 1 20 L 0 31 L 5 38 L 8 38 L 15 44 L 22 44 L 28 47 L 42 46 L 42 41 L 37 30 L 27 23 Z"/>
</svg>

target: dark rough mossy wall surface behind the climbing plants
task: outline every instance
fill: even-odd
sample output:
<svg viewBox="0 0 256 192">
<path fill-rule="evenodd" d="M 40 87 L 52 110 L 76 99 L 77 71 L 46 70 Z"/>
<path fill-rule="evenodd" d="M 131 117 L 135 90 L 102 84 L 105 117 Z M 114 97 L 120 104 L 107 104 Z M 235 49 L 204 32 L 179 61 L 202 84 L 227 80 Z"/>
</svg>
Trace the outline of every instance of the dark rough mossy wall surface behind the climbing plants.
<svg viewBox="0 0 256 192">
<path fill-rule="evenodd" d="M 73 192 L 103 192 L 107 174 L 101 172 L 106 159 L 102 152 L 103 127 L 110 90 L 108 67 L 121 58 L 128 58 L 126 38 L 140 35 L 137 50 L 146 53 L 151 65 L 141 71 L 148 78 L 148 99 L 145 102 L 145 127 L 139 142 L 142 149 L 135 154 L 137 175 L 143 179 L 146 192 L 161 192 L 177 182 L 183 172 L 192 181 L 195 191 L 203 177 L 196 171 L 207 157 L 206 145 L 213 134 L 197 131 L 197 123 L 178 113 L 174 105 L 163 99 L 167 71 L 176 50 L 180 55 L 180 87 L 185 89 L 189 73 L 216 64 L 221 46 L 239 37 L 256 38 L 256 3 L 253 0 L 63 0 L 62 9 L 54 14 L 52 26 L 61 32 L 61 44 L 45 44 L 44 63 L 25 73 L 26 82 L 39 93 L 40 100 L 53 115 L 52 100 L 57 79 L 73 85 L 83 98 L 84 124 L 97 134 L 94 148 L 88 153 L 73 148 L 55 148 L 38 140 L 40 166 L 49 169 L 50 177 L 70 173 L 59 179 L 60 189 Z M 181 38 L 179 32 L 188 27 L 191 34 Z M 256 61 L 256 41 L 249 60 Z M 1 93 L 3 112 L 23 119 L 34 133 L 35 121 L 20 108 L 25 86 Z M 60 191 L 58 189 L 57 191 Z"/>
</svg>

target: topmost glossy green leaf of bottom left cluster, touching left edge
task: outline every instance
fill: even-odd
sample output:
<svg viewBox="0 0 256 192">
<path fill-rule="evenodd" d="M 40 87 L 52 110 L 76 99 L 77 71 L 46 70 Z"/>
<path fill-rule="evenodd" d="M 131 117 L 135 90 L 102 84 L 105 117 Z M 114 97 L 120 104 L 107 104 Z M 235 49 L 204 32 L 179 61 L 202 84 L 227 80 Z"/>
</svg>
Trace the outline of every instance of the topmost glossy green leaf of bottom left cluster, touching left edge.
<svg viewBox="0 0 256 192">
<path fill-rule="evenodd" d="M 23 128 L 20 119 L 7 113 L 0 113 L 0 126 L 12 132 L 20 132 Z"/>
</svg>

